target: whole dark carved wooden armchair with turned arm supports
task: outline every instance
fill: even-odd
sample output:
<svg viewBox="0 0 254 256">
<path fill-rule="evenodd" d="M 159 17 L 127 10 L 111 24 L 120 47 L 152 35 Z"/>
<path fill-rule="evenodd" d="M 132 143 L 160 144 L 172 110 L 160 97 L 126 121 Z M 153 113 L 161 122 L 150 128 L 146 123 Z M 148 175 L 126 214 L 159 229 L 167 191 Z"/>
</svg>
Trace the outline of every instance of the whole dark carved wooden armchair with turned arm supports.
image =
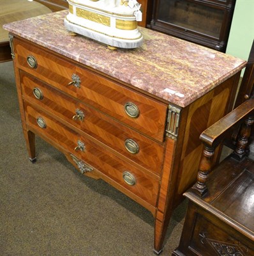
<svg viewBox="0 0 254 256">
<path fill-rule="evenodd" d="M 197 182 L 184 193 L 188 210 L 179 246 L 172 255 L 254 255 L 254 161 L 248 157 L 253 122 L 251 97 L 202 132 L 204 152 Z M 215 148 L 240 123 L 234 152 L 212 168 Z"/>
</svg>

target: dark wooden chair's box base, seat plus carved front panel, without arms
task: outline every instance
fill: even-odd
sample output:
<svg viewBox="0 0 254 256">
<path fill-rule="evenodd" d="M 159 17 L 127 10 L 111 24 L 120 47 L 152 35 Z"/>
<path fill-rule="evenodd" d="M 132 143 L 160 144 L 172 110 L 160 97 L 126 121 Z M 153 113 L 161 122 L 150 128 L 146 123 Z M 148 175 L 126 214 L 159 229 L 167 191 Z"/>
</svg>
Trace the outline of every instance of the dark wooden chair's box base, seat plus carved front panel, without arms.
<svg viewBox="0 0 254 256">
<path fill-rule="evenodd" d="M 254 256 L 254 161 L 227 157 L 207 180 L 207 193 L 184 193 L 188 211 L 173 256 Z"/>
</svg>

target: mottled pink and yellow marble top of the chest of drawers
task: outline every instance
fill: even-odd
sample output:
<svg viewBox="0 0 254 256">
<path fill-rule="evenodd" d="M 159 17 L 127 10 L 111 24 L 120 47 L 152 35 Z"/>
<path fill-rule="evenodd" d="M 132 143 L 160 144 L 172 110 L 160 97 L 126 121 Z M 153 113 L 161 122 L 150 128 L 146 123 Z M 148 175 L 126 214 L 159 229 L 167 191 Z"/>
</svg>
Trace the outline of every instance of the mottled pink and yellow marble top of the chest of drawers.
<svg viewBox="0 0 254 256">
<path fill-rule="evenodd" d="M 49 13 L 3 28 L 181 107 L 246 65 L 244 60 L 146 28 L 138 28 L 144 36 L 141 47 L 112 51 L 71 35 L 64 27 L 67 13 Z"/>
</svg>

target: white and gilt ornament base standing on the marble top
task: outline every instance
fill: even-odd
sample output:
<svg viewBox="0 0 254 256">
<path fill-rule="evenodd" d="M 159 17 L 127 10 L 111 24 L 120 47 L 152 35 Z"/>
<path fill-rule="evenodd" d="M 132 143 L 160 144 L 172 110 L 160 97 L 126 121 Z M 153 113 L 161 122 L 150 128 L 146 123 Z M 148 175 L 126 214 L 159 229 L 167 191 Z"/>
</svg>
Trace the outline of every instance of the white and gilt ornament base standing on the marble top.
<svg viewBox="0 0 254 256">
<path fill-rule="evenodd" d="M 64 26 L 110 47 L 137 48 L 143 36 L 137 21 L 142 20 L 137 0 L 67 0 L 69 13 Z"/>
</svg>

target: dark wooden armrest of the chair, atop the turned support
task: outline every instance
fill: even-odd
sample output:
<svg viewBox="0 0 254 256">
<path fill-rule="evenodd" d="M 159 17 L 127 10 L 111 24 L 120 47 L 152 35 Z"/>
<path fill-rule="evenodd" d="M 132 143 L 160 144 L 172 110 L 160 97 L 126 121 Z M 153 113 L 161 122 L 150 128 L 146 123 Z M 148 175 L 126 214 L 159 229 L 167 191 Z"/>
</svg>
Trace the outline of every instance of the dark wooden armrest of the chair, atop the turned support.
<svg viewBox="0 0 254 256">
<path fill-rule="evenodd" d="M 207 128 L 200 135 L 200 140 L 209 147 L 217 147 L 227 133 L 230 132 L 230 129 L 251 115 L 251 113 L 254 114 L 254 98 L 246 100 L 239 107 L 228 113 L 228 115 Z"/>
</svg>

